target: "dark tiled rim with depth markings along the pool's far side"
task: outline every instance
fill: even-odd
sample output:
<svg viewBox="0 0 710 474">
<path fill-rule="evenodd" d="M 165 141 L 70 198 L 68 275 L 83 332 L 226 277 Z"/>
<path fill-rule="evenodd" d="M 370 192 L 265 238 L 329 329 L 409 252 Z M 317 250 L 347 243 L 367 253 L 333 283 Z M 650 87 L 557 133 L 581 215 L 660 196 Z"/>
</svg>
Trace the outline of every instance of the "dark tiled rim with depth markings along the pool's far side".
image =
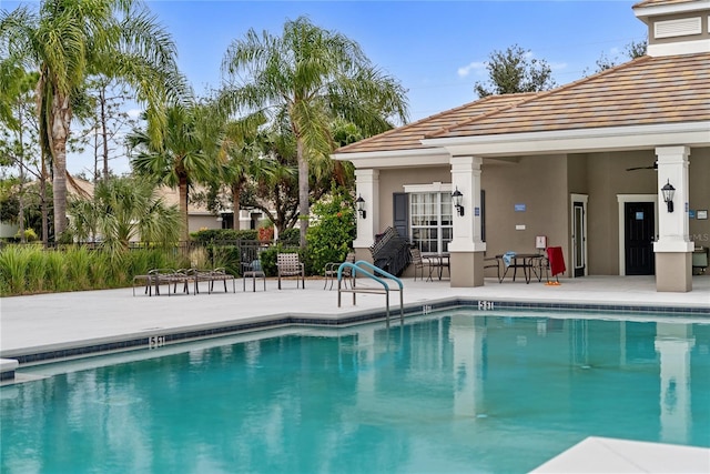
<svg viewBox="0 0 710 474">
<path fill-rule="evenodd" d="M 509 301 L 504 299 L 479 300 L 473 297 L 453 296 L 440 300 L 427 300 L 404 305 L 404 316 L 423 315 L 433 311 L 468 307 L 481 312 L 495 313 L 501 310 L 548 310 L 575 311 L 585 313 L 613 312 L 619 314 L 672 314 L 686 316 L 710 316 L 710 306 L 671 306 L 671 305 L 639 305 L 618 303 L 559 303 L 549 301 Z M 343 315 L 335 314 L 298 314 L 284 313 L 270 316 L 255 316 L 239 321 L 222 321 L 211 324 L 199 324 L 182 327 L 156 327 L 140 333 L 121 334 L 85 341 L 72 341 L 33 347 L 21 347 L 0 352 L 2 359 L 16 360 L 20 366 L 39 365 L 44 363 L 75 360 L 89 356 L 104 355 L 116 352 L 190 342 L 239 334 L 244 332 L 271 330 L 286 326 L 320 326 L 346 327 L 365 322 L 386 320 L 386 309 L 351 311 Z M 390 323 L 397 323 L 399 310 L 389 311 Z"/>
</svg>

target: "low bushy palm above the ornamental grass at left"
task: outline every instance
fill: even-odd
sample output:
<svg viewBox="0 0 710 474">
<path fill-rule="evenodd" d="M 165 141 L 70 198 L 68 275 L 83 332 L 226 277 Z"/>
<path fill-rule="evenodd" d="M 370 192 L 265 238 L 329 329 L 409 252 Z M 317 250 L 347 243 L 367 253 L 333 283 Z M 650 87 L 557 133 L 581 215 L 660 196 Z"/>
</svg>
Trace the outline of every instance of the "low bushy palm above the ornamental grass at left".
<svg viewBox="0 0 710 474">
<path fill-rule="evenodd" d="M 180 238 L 180 213 L 155 195 L 153 183 L 140 178 L 113 178 L 97 183 L 93 199 L 69 203 L 68 230 L 80 241 L 100 238 L 112 250 L 132 240 L 173 243 Z"/>
</svg>

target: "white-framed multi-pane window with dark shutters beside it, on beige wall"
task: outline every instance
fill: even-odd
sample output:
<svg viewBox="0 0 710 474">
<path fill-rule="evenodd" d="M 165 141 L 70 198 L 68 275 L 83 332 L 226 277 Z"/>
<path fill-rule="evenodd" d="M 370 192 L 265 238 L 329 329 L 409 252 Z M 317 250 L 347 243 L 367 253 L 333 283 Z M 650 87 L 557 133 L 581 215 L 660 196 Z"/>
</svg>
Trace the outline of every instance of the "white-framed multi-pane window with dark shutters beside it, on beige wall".
<svg viewBox="0 0 710 474">
<path fill-rule="evenodd" d="M 412 242 L 422 252 L 448 252 L 453 236 L 450 191 L 410 193 L 409 216 Z"/>
</svg>

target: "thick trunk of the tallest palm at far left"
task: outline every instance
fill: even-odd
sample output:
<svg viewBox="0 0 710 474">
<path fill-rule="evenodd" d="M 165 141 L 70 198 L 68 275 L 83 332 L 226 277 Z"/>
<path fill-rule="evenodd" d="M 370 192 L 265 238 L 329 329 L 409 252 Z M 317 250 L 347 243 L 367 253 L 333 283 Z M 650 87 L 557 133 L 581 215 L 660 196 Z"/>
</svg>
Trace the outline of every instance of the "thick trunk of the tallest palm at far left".
<svg viewBox="0 0 710 474">
<path fill-rule="evenodd" d="M 67 230 L 67 138 L 71 125 L 69 97 L 57 94 L 52 98 L 51 115 L 52 165 L 54 177 L 54 241 Z"/>
</svg>

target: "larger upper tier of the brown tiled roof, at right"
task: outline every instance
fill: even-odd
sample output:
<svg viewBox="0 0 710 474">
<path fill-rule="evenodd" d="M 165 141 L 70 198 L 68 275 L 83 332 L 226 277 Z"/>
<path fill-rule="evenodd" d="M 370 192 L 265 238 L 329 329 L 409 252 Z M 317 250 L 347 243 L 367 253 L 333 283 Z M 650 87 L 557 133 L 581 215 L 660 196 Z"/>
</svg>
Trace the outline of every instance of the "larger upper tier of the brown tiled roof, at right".
<svg viewBox="0 0 710 474">
<path fill-rule="evenodd" d="M 710 53 L 643 57 L 429 137 L 710 120 Z"/>
</svg>

